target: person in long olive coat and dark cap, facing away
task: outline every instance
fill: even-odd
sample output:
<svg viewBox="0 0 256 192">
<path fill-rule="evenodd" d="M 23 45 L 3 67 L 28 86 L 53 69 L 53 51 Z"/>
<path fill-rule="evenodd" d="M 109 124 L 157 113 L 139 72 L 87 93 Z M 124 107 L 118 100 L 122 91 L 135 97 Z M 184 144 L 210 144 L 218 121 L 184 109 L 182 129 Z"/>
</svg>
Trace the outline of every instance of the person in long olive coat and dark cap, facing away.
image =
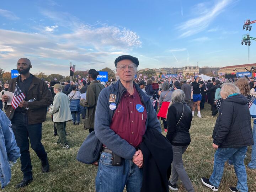
<svg viewBox="0 0 256 192">
<path fill-rule="evenodd" d="M 84 129 L 89 129 L 89 133 L 94 130 L 95 110 L 98 96 L 104 88 L 96 79 L 99 73 L 95 69 L 88 71 L 90 85 L 87 87 L 86 99 L 81 99 L 80 105 L 86 108 Z"/>
</svg>

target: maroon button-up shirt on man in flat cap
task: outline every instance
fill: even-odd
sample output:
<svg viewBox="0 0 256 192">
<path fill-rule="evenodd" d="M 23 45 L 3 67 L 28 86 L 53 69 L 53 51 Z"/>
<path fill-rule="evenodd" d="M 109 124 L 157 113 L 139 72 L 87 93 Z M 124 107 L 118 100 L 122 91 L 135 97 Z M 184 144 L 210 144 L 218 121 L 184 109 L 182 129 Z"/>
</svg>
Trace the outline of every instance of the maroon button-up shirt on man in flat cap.
<svg viewBox="0 0 256 192">
<path fill-rule="evenodd" d="M 130 95 L 125 91 L 112 118 L 110 128 L 122 139 L 134 147 L 139 146 L 146 130 L 146 108 L 140 101 L 140 96 L 133 86 L 134 93 Z M 136 105 L 144 107 L 143 112 L 138 112 Z"/>
</svg>

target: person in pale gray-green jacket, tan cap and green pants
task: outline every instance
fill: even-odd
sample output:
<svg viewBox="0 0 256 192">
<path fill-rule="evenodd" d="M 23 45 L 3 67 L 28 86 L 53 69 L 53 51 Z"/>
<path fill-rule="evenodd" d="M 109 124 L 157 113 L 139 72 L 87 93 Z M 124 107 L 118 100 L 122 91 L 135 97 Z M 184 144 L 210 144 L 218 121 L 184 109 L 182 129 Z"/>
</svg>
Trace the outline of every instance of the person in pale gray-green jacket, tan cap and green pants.
<svg viewBox="0 0 256 192">
<path fill-rule="evenodd" d="M 59 137 L 56 144 L 61 144 L 63 148 L 69 149 L 69 144 L 66 140 L 66 122 L 72 119 L 70 110 L 67 110 L 69 108 L 69 98 L 66 94 L 62 93 L 62 86 L 60 84 L 55 84 L 53 91 L 56 95 L 53 99 L 50 113 L 53 115 L 53 122 Z"/>
</svg>

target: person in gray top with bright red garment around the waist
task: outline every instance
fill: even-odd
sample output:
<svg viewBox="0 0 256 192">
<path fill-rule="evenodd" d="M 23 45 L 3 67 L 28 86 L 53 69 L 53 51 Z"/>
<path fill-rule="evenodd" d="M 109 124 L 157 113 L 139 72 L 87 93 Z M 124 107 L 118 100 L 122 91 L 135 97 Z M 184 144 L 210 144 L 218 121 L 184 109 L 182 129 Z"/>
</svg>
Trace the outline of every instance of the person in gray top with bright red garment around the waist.
<svg viewBox="0 0 256 192">
<path fill-rule="evenodd" d="M 158 105 L 159 112 L 157 115 L 158 117 L 161 117 L 161 120 L 163 121 L 165 133 L 167 133 L 166 114 L 172 99 L 172 91 L 169 91 L 169 86 L 170 85 L 168 82 L 164 82 L 164 84 L 162 84 L 162 91 L 159 97 Z"/>
</svg>

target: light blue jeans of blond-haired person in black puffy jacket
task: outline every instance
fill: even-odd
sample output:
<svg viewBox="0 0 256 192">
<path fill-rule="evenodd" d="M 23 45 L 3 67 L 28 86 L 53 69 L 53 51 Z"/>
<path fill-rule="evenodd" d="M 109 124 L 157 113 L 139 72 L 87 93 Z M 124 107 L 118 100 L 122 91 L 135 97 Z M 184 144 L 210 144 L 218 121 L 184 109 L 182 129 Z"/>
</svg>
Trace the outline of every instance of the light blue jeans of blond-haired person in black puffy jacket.
<svg viewBox="0 0 256 192">
<path fill-rule="evenodd" d="M 236 189 L 240 192 L 247 192 L 247 175 L 244 165 L 245 153 L 247 151 L 247 146 L 240 148 L 218 148 L 214 155 L 214 166 L 213 173 L 210 177 L 210 183 L 214 187 L 219 187 L 220 180 L 222 179 L 224 164 L 231 156 L 233 156 L 234 169 L 236 177 L 238 178 L 238 183 Z"/>
</svg>

